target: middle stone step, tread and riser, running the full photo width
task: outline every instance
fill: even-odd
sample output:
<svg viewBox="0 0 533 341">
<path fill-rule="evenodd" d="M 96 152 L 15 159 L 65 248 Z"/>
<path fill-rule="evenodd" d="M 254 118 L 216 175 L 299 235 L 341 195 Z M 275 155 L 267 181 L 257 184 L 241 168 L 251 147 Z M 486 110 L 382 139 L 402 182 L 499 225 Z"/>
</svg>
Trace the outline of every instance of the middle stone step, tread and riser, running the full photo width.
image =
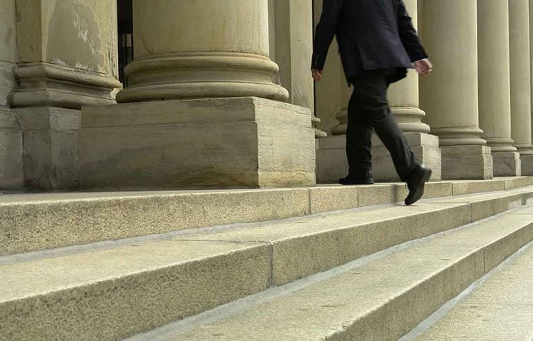
<svg viewBox="0 0 533 341">
<path fill-rule="evenodd" d="M 412 207 L 368 207 L 3 256 L 0 335 L 133 335 L 520 207 L 532 197 L 528 186 Z"/>
</svg>

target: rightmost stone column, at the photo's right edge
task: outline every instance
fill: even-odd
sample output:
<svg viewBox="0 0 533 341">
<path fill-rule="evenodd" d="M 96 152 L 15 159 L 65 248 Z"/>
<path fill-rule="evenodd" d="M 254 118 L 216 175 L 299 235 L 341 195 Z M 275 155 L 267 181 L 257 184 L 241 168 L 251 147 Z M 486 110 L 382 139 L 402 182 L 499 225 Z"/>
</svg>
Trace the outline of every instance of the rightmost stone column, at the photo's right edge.
<svg viewBox="0 0 533 341">
<path fill-rule="evenodd" d="M 529 0 L 509 0 L 509 39 L 511 136 L 520 152 L 523 175 L 533 175 Z"/>
</svg>

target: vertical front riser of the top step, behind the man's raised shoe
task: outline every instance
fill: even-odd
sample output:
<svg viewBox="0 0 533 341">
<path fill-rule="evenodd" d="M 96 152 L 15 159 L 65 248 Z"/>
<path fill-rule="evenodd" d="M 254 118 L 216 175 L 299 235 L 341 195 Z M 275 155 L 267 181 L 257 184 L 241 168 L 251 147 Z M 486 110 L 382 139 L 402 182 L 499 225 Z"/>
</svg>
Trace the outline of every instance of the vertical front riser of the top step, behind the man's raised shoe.
<svg viewBox="0 0 533 341">
<path fill-rule="evenodd" d="M 425 198 L 516 189 L 533 177 L 432 182 Z M 0 195 L 0 256 L 401 202 L 404 184 Z"/>
</svg>

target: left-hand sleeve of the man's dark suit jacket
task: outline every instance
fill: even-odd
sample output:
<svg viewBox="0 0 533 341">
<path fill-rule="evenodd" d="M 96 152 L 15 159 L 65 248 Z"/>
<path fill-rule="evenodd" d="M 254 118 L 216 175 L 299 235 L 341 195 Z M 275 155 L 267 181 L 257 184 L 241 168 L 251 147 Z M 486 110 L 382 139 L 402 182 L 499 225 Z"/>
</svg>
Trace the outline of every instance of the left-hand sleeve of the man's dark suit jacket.
<svg viewBox="0 0 533 341">
<path fill-rule="evenodd" d="M 322 15 L 319 24 L 316 25 L 316 32 L 314 37 L 313 57 L 311 67 L 313 69 L 321 70 L 324 68 L 325 58 L 328 56 L 331 42 L 335 33 L 337 33 L 337 26 L 339 26 L 339 18 L 344 0 L 324 0 Z"/>
</svg>

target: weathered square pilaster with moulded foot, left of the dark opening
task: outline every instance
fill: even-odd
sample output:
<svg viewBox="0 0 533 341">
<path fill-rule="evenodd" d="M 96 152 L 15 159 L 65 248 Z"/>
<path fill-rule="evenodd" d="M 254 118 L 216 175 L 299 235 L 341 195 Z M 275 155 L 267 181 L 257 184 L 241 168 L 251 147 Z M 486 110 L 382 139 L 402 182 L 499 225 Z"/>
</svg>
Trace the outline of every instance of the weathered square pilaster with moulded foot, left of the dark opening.
<svg viewBox="0 0 533 341">
<path fill-rule="evenodd" d="M 17 0 L 15 107 L 115 103 L 117 1 Z"/>
</svg>

